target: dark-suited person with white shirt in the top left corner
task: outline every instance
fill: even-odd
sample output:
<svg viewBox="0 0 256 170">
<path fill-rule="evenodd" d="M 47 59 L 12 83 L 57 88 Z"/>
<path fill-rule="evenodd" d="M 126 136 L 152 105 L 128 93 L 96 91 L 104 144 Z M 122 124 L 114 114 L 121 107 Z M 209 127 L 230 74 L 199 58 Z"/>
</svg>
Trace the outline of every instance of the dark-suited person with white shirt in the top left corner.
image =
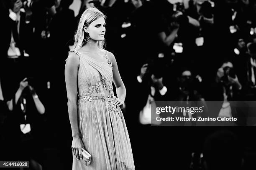
<svg viewBox="0 0 256 170">
<path fill-rule="evenodd" d="M 1 14 L 5 26 L 2 29 L 3 56 L 12 64 L 28 57 L 32 51 L 32 27 L 26 23 L 27 13 L 21 0 L 3 1 Z M 4 65 L 8 68 L 9 65 Z"/>
</svg>

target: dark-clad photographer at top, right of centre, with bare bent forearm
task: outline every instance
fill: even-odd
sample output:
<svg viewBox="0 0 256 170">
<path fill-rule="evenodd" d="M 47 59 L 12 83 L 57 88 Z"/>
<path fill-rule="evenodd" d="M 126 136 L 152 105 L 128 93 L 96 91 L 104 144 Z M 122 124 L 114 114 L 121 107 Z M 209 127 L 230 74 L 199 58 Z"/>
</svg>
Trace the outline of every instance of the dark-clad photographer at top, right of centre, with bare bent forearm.
<svg viewBox="0 0 256 170">
<path fill-rule="evenodd" d="M 195 38 L 200 28 L 199 21 L 186 14 L 184 4 L 181 2 L 172 4 L 165 0 L 157 4 L 162 6 L 159 8 L 160 22 L 156 29 L 159 53 L 164 53 L 167 57 L 171 56 L 175 50 L 174 42 L 176 42 L 182 43 L 183 57 L 195 54 Z M 193 59 L 190 57 L 189 60 Z"/>
</svg>

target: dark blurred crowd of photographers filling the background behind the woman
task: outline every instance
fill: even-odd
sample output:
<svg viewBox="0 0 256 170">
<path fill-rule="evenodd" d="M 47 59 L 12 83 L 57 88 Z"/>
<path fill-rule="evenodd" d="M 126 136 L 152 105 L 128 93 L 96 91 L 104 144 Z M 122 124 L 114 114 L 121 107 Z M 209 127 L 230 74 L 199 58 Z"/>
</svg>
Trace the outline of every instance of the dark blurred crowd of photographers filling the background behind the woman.
<svg viewBox="0 0 256 170">
<path fill-rule="evenodd" d="M 1 160 L 29 160 L 39 170 L 47 167 L 44 148 L 58 155 L 71 153 L 64 66 L 78 20 L 92 6 L 107 16 L 105 49 L 115 55 L 126 87 L 123 113 L 131 143 L 136 143 L 132 147 L 138 169 L 159 158 L 152 151 L 159 145 L 148 142 L 160 138 L 153 131 L 165 128 L 150 127 L 154 100 L 221 101 L 214 106 L 216 117 L 236 116 L 241 118 L 234 125 L 256 125 L 253 111 L 240 113 L 230 104 L 256 100 L 256 1 L 81 0 L 77 16 L 69 9 L 72 3 L 0 2 L 0 135 L 6 151 Z M 185 131 L 190 136 L 191 131 Z M 205 136 L 197 135 L 202 143 Z M 209 138 L 206 143 L 209 148 Z M 14 146 L 20 148 L 15 157 Z M 151 157 L 141 158 L 148 150 Z M 171 158 L 177 156 L 184 155 Z M 69 158 L 59 159 L 72 164 Z M 190 155 L 184 160 L 189 162 Z M 189 169 L 189 163 L 182 166 Z"/>
</svg>

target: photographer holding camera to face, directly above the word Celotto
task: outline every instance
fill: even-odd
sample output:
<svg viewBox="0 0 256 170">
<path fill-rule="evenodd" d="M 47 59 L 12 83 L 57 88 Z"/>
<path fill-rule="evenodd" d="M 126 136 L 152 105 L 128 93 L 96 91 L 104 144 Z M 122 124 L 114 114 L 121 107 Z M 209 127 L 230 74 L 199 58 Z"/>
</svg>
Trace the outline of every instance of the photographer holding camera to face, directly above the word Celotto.
<svg viewBox="0 0 256 170">
<path fill-rule="evenodd" d="M 236 101 L 241 101 L 241 89 L 242 85 L 238 80 L 233 63 L 225 60 L 217 71 L 215 82 L 208 88 L 206 99 L 219 101 L 209 106 L 210 116 L 237 118 L 236 122 L 223 122 L 223 125 L 235 125 L 235 123 L 236 125 L 246 125 L 246 107 L 240 110 L 237 109 L 236 104 Z M 239 104 L 241 105 L 241 102 Z"/>
</svg>

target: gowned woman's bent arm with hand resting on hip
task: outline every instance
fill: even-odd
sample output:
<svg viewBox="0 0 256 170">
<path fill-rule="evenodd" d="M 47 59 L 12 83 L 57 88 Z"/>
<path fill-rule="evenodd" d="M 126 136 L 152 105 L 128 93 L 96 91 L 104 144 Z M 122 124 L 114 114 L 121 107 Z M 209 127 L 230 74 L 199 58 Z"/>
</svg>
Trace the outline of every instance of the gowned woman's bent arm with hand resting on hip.
<svg viewBox="0 0 256 170">
<path fill-rule="evenodd" d="M 125 85 L 123 84 L 123 80 L 120 76 L 119 70 L 118 70 L 118 65 L 115 60 L 115 56 L 109 52 L 108 53 L 109 59 L 112 62 L 112 67 L 113 67 L 113 81 L 116 87 L 116 94 L 117 94 L 117 99 L 114 101 L 114 105 L 120 106 L 120 108 L 123 108 L 123 104 L 125 101 L 125 96 L 126 96 L 126 89 Z"/>
</svg>

